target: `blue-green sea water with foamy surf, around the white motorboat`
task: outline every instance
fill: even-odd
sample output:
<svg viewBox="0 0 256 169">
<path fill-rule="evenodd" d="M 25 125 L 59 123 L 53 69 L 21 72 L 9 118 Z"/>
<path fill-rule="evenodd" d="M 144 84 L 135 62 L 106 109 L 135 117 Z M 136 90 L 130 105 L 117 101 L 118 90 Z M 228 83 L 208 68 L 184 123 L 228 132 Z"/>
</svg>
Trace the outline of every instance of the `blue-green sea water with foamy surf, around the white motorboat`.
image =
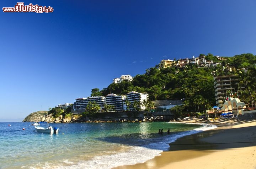
<svg viewBox="0 0 256 169">
<path fill-rule="evenodd" d="M 216 128 L 171 122 L 50 126 L 58 127 L 58 134 L 38 133 L 28 122 L 0 122 L 0 169 L 111 169 L 144 163 L 177 138 Z M 164 133 L 158 134 L 161 128 Z"/>
</svg>

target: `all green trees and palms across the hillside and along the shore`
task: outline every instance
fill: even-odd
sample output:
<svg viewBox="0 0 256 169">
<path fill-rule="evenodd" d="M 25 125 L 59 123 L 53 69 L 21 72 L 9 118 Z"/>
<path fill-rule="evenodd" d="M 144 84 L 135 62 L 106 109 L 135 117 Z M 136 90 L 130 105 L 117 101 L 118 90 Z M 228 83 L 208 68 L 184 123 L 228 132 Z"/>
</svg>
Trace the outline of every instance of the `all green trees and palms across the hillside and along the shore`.
<svg viewBox="0 0 256 169">
<path fill-rule="evenodd" d="M 204 54 L 200 54 L 202 56 Z M 216 67 L 202 67 L 188 64 L 185 68 L 158 69 L 158 65 L 154 68 L 146 69 L 145 74 L 136 75 L 133 82 L 122 81 L 121 83 L 111 83 L 107 88 L 101 91 L 94 88 L 91 91 L 91 97 L 105 96 L 110 93 L 125 95 L 131 91 L 148 93 L 149 100 L 182 100 L 182 106 L 176 106 L 171 109 L 175 117 L 182 116 L 183 113 L 206 112 L 215 103 L 214 76 L 223 76 L 235 74 L 239 76 L 239 84 L 237 90 L 240 100 L 245 104 L 255 106 L 256 99 L 256 56 L 253 54 L 241 54 L 234 57 L 222 57 L 218 59 L 213 54 L 208 53 L 206 60 L 213 60 L 214 63 L 220 63 Z M 245 69 L 248 69 L 245 70 Z M 153 107 L 151 101 L 143 101 L 146 110 Z M 130 103 L 126 101 L 129 110 Z M 138 107 L 133 105 L 137 111 Z M 113 111 L 111 105 L 104 105 L 105 111 Z M 63 110 L 60 108 L 52 108 L 48 113 L 52 113 L 57 118 L 71 116 L 71 107 Z M 95 102 L 87 105 L 87 112 L 82 113 L 83 116 L 92 115 L 100 110 L 100 106 Z"/>
</svg>

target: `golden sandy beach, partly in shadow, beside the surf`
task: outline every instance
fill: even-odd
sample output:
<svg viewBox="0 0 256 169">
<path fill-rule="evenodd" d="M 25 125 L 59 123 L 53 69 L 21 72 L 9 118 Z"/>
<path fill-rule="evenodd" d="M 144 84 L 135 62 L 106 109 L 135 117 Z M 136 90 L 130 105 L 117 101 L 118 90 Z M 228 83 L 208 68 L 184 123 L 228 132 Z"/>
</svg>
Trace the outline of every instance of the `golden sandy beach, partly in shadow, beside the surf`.
<svg viewBox="0 0 256 169">
<path fill-rule="evenodd" d="M 143 164 L 116 169 L 256 169 L 256 117 L 211 124 L 218 128 L 180 138 L 170 151 Z"/>
</svg>

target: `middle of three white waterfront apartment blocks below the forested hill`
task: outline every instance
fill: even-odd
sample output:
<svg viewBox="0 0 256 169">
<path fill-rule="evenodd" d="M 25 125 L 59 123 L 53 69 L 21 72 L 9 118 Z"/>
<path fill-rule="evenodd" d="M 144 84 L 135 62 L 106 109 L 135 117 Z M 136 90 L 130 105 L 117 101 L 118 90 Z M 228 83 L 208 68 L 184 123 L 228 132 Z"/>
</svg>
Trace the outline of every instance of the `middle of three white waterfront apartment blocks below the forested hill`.
<svg viewBox="0 0 256 169">
<path fill-rule="evenodd" d="M 113 105 L 116 111 L 126 110 L 126 105 L 124 104 L 124 100 L 126 96 L 119 96 L 117 94 L 108 94 L 106 95 L 106 104 Z"/>
</svg>

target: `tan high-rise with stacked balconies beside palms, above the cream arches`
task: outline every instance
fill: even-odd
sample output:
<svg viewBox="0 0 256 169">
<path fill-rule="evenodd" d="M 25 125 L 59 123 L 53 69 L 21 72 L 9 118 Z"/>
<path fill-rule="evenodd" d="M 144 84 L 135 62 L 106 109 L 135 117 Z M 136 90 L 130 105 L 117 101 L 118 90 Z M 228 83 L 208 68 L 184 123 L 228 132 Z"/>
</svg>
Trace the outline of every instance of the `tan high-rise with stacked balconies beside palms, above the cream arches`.
<svg viewBox="0 0 256 169">
<path fill-rule="evenodd" d="M 227 91 L 235 92 L 238 81 L 239 77 L 237 75 L 214 77 L 215 100 L 218 107 L 223 106 L 223 100 Z"/>
</svg>

